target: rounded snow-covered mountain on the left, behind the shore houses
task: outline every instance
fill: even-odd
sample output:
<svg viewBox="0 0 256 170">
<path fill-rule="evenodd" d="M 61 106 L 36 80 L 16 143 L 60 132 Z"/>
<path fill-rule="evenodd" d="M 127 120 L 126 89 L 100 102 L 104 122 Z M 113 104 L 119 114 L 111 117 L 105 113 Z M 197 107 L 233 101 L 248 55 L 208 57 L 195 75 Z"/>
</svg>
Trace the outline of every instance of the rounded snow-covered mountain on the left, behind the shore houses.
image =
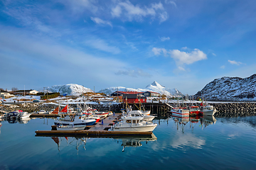
<svg viewBox="0 0 256 170">
<path fill-rule="evenodd" d="M 88 89 L 84 86 L 78 84 L 65 84 L 65 85 L 55 85 L 48 87 L 48 91 L 58 92 L 60 94 L 67 94 L 70 96 L 79 96 L 86 92 L 93 92 L 91 89 Z"/>
</svg>

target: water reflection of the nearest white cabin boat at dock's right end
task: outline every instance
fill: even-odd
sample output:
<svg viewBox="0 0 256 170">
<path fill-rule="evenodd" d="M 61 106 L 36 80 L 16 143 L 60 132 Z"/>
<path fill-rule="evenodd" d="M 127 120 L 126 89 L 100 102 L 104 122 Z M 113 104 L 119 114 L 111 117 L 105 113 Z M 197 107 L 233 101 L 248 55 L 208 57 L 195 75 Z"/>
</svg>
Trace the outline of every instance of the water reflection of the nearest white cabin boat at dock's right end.
<svg viewBox="0 0 256 170">
<path fill-rule="evenodd" d="M 114 138 L 114 140 L 117 140 L 117 143 L 119 140 L 122 140 L 122 152 L 124 152 L 125 147 L 141 147 L 142 143 L 145 142 L 153 142 L 157 140 L 157 137 L 152 133 L 150 137 L 120 137 L 120 138 Z"/>
</svg>

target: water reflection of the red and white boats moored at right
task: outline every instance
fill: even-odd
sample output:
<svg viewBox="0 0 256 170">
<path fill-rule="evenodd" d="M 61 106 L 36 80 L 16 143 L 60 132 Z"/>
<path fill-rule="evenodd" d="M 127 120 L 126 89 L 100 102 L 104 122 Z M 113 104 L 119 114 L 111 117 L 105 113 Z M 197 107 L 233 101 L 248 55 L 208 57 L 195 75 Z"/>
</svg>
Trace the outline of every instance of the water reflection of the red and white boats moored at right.
<svg viewBox="0 0 256 170">
<path fill-rule="evenodd" d="M 217 121 L 213 115 L 203 115 L 203 116 L 196 115 L 190 118 L 183 118 L 177 115 L 171 115 L 171 118 L 173 118 L 177 126 L 177 130 L 181 127 L 181 132 L 183 133 L 184 133 L 184 128 L 188 123 L 189 123 L 189 127 L 193 130 L 194 124 L 199 124 L 199 126 L 203 129 L 203 128 L 206 128 L 208 125 L 215 124 Z"/>
</svg>

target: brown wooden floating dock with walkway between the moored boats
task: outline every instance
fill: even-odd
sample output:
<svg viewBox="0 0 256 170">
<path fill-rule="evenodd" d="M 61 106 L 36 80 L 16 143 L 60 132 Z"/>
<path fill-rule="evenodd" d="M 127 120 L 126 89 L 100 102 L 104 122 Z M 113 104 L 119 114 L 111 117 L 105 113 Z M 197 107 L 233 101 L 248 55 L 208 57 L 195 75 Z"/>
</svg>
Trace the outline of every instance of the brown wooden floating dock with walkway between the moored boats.
<svg viewBox="0 0 256 170">
<path fill-rule="evenodd" d="M 86 136 L 86 137 L 119 137 L 119 136 L 151 136 L 152 132 L 117 132 L 108 131 L 111 125 L 115 121 L 119 121 L 121 113 L 110 115 L 107 118 L 101 120 L 96 125 L 87 126 L 87 130 L 55 130 L 56 126 L 52 126 L 52 130 L 37 130 L 36 136 L 48 136 L 48 137 L 75 137 L 75 136 Z"/>
</svg>

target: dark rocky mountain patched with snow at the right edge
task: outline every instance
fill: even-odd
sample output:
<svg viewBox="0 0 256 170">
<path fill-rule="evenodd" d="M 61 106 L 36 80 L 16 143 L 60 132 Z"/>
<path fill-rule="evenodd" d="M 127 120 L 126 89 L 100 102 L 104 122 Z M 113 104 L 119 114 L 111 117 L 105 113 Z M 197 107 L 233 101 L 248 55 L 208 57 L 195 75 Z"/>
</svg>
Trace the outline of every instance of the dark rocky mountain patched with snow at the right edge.
<svg viewBox="0 0 256 170">
<path fill-rule="evenodd" d="M 214 79 L 195 96 L 218 101 L 256 101 L 256 74 L 245 79 L 240 77 Z"/>
</svg>

